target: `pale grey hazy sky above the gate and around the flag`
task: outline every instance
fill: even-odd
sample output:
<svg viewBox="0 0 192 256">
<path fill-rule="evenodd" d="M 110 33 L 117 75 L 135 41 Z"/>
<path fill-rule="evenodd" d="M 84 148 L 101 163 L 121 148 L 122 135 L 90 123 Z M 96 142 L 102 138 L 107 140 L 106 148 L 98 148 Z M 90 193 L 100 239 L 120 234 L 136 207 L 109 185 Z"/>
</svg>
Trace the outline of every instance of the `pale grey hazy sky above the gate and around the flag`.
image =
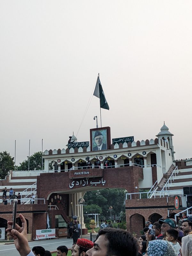
<svg viewBox="0 0 192 256">
<path fill-rule="evenodd" d="M 192 157 L 192 1 L 0 1 L 0 151 L 16 163 L 76 135 L 97 74 L 111 138 L 155 139 Z M 100 115 L 92 98 L 78 141 Z"/>
</svg>

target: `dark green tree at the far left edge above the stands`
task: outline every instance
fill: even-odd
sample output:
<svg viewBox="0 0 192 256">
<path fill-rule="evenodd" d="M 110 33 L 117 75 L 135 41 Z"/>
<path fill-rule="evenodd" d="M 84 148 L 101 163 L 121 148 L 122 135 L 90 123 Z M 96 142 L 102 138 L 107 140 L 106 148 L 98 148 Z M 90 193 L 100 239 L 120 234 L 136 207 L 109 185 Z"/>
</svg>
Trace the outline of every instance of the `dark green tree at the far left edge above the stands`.
<svg viewBox="0 0 192 256">
<path fill-rule="evenodd" d="M 4 179 L 8 171 L 14 169 L 14 157 L 7 151 L 0 152 L 0 177 Z"/>
</svg>

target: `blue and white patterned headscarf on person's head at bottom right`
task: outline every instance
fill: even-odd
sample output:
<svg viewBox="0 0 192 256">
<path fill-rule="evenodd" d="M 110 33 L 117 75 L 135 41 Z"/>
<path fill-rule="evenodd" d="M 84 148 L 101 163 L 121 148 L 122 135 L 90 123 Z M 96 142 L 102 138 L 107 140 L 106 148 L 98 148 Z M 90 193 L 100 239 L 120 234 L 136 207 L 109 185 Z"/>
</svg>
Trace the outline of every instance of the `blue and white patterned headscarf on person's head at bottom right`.
<svg viewBox="0 0 192 256">
<path fill-rule="evenodd" d="M 177 256 L 169 242 L 164 240 L 150 241 L 145 256 Z"/>
</svg>

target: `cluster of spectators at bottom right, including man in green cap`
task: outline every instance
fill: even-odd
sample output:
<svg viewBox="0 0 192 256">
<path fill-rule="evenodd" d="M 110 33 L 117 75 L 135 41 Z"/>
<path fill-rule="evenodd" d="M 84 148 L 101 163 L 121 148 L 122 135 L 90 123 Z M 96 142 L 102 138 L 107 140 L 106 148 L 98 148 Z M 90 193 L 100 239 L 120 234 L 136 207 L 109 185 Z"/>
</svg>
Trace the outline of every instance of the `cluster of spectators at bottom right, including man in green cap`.
<svg viewBox="0 0 192 256">
<path fill-rule="evenodd" d="M 138 256 L 192 256 L 192 217 L 187 217 L 187 213 L 184 212 L 178 219 L 178 225 L 171 218 L 162 218 L 153 224 L 151 220 L 146 221 L 144 235 L 139 238 Z M 164 249 L 157 249 L 157 246 Z M 162 254 L 158 253 L 159 250 Z"/>
</svg>

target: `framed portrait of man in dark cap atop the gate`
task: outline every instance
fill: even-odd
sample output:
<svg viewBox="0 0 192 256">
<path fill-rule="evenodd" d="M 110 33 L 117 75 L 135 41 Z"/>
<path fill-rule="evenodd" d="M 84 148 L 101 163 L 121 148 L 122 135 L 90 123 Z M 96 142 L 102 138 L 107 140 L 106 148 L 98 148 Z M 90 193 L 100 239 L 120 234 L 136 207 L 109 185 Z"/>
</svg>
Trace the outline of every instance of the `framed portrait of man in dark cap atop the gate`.
<svg viewBox="0 0 192 256">
<path fill-rule="evenodd" d="M 110 127 L 90 129 L 91 150 L 106 150 L 110 147 Z"/>
</svg>

